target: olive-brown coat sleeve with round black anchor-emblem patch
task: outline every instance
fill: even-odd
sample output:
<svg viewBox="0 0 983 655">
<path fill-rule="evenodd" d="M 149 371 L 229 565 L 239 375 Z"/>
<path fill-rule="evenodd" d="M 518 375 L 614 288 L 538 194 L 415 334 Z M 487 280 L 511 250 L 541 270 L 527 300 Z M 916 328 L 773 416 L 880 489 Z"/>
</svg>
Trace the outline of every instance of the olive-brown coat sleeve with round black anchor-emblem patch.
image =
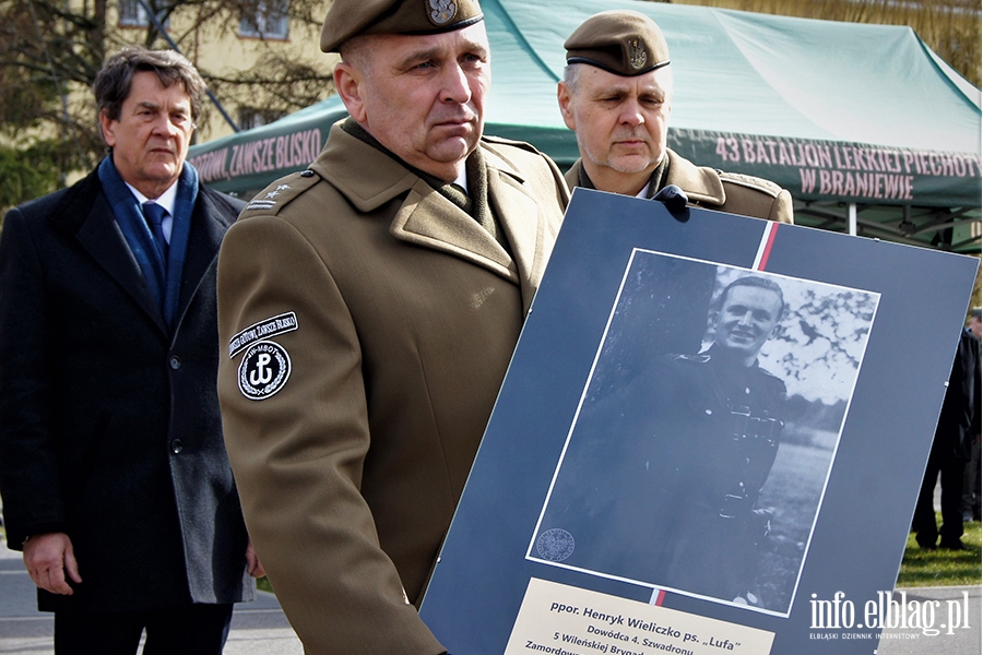
<svg viewBox="0 0 983 655">
<path fill-rule="evenodd" d="M 443 653 L 359 492 L 362 357 L 329 266 L 275 216 L 240 219 L 222 246 L 218 391 L 246 523 L 307 653 Z M 269 321 L 291 314 L 294 329 Z"/>
</svg>

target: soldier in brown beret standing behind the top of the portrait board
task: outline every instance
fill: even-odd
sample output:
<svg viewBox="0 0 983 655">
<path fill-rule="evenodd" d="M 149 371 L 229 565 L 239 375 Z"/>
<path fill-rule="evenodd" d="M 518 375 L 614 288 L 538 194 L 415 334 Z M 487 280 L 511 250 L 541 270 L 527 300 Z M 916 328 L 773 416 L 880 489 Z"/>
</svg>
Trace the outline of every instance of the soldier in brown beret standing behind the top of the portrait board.
<svg viewBox="0 0 983 655">
<path fill-rule="evenodd" d="M 673 72 L 652 19 L 604 11 L 564 47 L 567 68 L 557 100 L 581 156 L 567 171 L 571 189 L 675 196 L 680 205 L 792 223 L 792 196 L 774 182 L 696 166 L 666 147 Z"/>
</svg>

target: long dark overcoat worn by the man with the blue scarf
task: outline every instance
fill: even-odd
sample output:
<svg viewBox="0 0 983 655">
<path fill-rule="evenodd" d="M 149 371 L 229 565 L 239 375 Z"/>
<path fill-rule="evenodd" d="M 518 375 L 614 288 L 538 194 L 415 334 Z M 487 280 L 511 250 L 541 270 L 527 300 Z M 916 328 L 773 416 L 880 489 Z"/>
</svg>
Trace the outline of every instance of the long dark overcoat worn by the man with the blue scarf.
<svg viewBox="0 0 983 655">
<path fill-rule="evenodd" d="M 244 204 L 201 187 L 168 330 L 95 171 L 11 210 L 0 238 L 8 539 L 66 532 L 83 582 L 48 610 L 252 596 L 216 395 L 215 267 Z"/>
</svg>

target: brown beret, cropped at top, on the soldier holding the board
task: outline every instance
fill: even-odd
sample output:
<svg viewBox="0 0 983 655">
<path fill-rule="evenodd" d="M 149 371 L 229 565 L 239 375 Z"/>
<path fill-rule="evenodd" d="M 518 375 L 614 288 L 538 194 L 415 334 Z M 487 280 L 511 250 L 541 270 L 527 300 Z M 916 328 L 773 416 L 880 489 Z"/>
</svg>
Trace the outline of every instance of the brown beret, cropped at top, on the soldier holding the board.
<svg viewBox="0 0 983 655">
<path fill-rule="evenodd" d="M 321 50 L 337 52 L 363 34 L 438 34 L 483 17 L 477 0 L 334 0 L 321 28 Z"/>
</svg>

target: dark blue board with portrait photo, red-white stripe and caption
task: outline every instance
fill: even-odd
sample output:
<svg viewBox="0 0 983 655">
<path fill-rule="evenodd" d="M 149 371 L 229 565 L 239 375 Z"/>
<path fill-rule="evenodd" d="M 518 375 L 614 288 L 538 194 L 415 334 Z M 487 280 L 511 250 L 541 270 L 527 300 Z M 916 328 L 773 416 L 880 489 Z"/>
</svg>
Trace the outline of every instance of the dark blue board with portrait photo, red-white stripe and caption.
<svg viewBox="0 0 983 655">
<path fill-rule="evenodd" d="M 577 189 L 421 616 L 458 655 L 874 653 L 976 266 Z"/>
</svg>

